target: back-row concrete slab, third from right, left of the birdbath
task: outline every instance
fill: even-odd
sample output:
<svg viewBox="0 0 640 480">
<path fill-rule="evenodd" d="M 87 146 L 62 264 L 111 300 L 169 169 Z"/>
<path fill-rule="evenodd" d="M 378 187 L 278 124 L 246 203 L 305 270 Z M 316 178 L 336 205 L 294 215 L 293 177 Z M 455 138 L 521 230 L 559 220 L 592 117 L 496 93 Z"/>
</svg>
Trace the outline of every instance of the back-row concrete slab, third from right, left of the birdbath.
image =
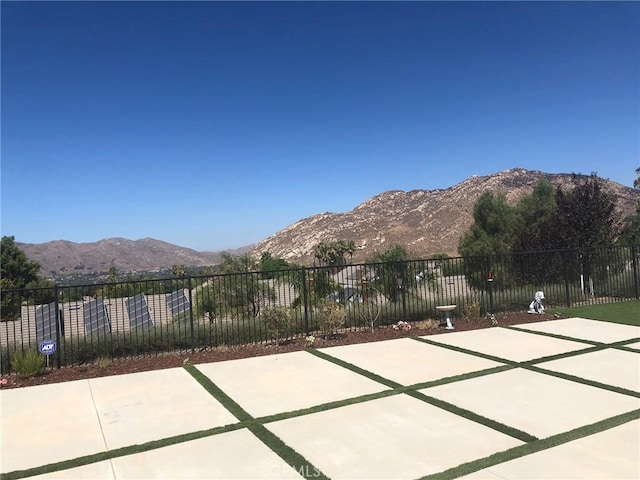
<svg viewBox="0 0 640 480">
<path fill-rule="evenodd" d="M 503 365 L 409 338 L 323 348 L 321 351 L 402 385 Z"/>
</svg>

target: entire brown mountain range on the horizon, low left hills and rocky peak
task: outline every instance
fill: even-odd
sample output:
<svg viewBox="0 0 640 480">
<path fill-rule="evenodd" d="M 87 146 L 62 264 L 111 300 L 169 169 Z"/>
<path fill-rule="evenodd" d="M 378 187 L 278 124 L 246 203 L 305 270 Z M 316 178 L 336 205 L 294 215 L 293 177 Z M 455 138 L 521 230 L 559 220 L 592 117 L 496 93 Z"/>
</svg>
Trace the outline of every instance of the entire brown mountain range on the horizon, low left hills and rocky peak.
<svg viewBox="0 0 640 480">
<path fill-rule="evenodd" d="M 228 251 L 250 252 L 259 257 L 269 252 L 277 258 L 299 264 L 313 263 L 314 247 L 324 241 L 353 240 L 357 250 L 353 261 L 397 243 L 413 255 L 436 253 L 455 256 L 460 237 L 473 223 L 473 207 L 485 191 L 505 195 L 510 204 L 531 193 L 541 180 L 555 186 L 572 187 L 572 174 L 552 174 L 514 168 L 478 176 L 438 190 L 387 191 L 346 213 L 324 212 L 287 226 L 254 246 Z M 603 180 L 604 189 L 622 216 L 631 215 L 640 191 Z M 57 240 L 40 244 L 18 243 L 28 258 L 40 263 L 47 275 L 119 271 L 148 271 L 172 265 L 204 266 L 220 261 L 221 252 L 198 252 L 151 238 L 127 240 L 108 238 L 93 243 Z"/>
</svg>

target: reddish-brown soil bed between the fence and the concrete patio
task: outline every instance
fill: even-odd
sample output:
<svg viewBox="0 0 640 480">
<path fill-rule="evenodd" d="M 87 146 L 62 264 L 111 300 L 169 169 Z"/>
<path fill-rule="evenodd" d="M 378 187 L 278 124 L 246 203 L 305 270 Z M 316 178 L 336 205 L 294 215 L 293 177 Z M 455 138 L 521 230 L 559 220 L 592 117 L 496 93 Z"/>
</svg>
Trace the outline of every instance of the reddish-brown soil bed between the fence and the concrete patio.
<svg viewBox="0 0 640 480">
<path fill-rule="evenodd" d="M 527 313 L 498 314 L 498 325 L 516 325 L 530 322 L 553 320 L 553 315 L 533 315 Z M 355 343 L 378 342 L 402 337 L 419 337 L 440 333 L 452 333 L 480 328 L 491 328 L 491 320 L 487 318 L 455 318 L 454 330 L 446 330 L 441 324 L 434 326 L 430 322 L 417 322 L 411 330 L 394 330 L 391 327 L 375 328 L 371 330 L 359 330 L 339 333 L 336 335 L 316 336 L 313 348 L 333 347 L 338 345 L 350 345 Z M 50 383 L 69 382 L 72 380 L 84 380 L 88 378 L 106 377 L 110 375 L 123 375 L 127 373 L 160 370 L 172 367 L 181 367 L 185 364 L 222 362 L 240 358 L 258 357 L 262 355 L 274 355 L 278 353 L 295 352 L 309 348 L 304 338 L 294 339 L 278 344 L 261 343 L 240 347 L 216 347 L 210 350 L 195 353 L 166 353 L 158 356 L 147 356 L 127 359 L 114 359 L 98 363 L 76 365 L 50 369 L 43 375 L 31 378 L 23 378 L 17 374 L 2 377 L 2 388 L 20 388 Z M 6 383 L 4 383 L 6 381 Z"/>
</svg>

